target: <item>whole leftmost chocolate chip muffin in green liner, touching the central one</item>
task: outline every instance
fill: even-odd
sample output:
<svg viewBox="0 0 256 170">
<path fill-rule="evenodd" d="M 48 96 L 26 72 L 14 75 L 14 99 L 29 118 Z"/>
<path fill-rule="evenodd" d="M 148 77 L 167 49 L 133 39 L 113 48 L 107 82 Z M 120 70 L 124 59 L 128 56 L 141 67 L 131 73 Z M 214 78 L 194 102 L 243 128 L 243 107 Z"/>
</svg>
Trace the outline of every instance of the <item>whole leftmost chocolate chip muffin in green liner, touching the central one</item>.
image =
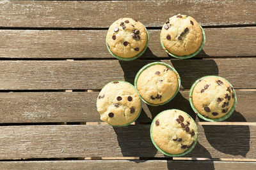
<svg viewBox="0 0 256 170">
<path fill-rule="evenodd" d="M 97 110 L 100 119 L 110 125 L 128 125 L 140 115 L 140 96 L 130 83 L 113 81 L 100 91 Z"/>
</svg>

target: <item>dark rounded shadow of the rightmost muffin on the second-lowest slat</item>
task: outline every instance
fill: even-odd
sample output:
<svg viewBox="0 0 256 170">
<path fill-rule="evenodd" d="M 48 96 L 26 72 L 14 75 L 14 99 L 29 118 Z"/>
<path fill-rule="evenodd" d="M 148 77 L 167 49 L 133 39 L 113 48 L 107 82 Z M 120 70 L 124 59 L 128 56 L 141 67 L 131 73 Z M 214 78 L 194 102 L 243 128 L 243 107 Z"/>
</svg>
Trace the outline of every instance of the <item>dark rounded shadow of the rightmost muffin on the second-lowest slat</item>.
<svg viewBox="0 0 256 170">
<path fill-rule="evenodd" d="M 250 150 L 248 125 L 202 125 L 202 127 L 206 139 L 213 148 L 225 154 L 246 157 Z"/>
</svg>

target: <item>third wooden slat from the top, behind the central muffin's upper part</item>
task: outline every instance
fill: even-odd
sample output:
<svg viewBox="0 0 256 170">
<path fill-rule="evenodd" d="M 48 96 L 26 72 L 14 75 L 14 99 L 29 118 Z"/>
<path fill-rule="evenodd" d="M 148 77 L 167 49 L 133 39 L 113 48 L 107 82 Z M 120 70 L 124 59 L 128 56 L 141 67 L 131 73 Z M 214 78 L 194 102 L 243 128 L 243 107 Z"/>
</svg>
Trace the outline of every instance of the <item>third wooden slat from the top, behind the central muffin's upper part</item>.
<svg viewBox="0 0 256 170">
<path fill-rule="evenodd" d="M 154 61 L 157 60 L 1 60 L 0 90 L 101 89 L 113 80 L 133 83 L 139 69 Z M 209 74 L 227 78 L 237 89 L 254 89 L 256 85 L 256 58 L 162 61 L 175 67 L 184 89 Z"/>
</svg>

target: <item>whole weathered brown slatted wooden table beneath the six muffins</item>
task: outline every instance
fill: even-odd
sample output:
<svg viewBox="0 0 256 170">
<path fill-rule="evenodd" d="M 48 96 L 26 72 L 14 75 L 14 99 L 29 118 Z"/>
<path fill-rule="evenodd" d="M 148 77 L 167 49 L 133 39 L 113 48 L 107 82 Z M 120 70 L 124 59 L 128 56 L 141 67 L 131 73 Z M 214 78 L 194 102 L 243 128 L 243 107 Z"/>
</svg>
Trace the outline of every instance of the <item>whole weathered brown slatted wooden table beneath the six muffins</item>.
<svg viewBox="0 0 256 170">
<path fill-rule="evenodd" d="M 163 22 L 178 13 L 205 29 L 193 59 L 173 59 L 160 45 Z M 148 29 L 140 59 L 118 61 L 106 48 L 108 27 L 121 17 Z M 256 169 L 255 44 L 256 1 L 0 1 L 0 169 Z M 128 127 L 101 122 L 100 89 L 133 83 L 156 60 L 179 72 L 177 97 L 143 104 Z M 236 88 L 236 111 L 225 122 L 204 122 L 189 105 L 192 83 L 209 74 Z M 152 118 L 170 108 L 198 124 L 198 144 L 184 157 L 164 157 L 150 141 Z"/>
</svg>

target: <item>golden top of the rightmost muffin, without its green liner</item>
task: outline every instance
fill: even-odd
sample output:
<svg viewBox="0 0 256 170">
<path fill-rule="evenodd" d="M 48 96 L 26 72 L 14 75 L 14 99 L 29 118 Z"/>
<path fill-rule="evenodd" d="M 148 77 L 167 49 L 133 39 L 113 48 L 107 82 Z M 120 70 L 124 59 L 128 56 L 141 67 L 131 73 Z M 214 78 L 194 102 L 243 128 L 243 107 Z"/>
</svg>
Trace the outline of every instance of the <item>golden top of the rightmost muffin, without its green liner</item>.
<svg viewBox="0 0 256 170">
<path fill-rule="evenodd" d="M 234 89 L 225 79 L 208 76 L 196 83 L 192 101 L 196 110 L 206 118 L 220 118 L 234 104 Z"/>
</svg>

